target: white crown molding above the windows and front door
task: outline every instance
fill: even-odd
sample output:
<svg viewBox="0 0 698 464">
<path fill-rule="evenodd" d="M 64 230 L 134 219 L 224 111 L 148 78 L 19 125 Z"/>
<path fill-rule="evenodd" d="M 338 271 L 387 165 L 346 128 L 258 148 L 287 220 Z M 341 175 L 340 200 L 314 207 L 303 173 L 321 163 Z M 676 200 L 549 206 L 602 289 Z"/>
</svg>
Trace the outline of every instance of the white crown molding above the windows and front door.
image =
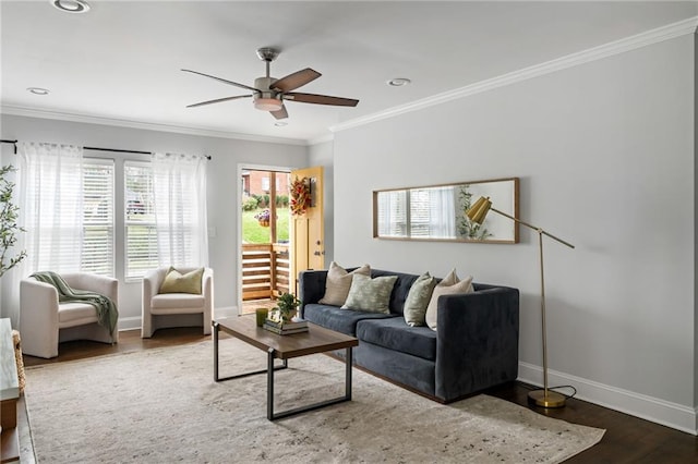
<svg viewBox="0 0 698 464">
<path fill-rule="evenodd" d="M 119 127 L 142 129 L 146 131 L 173 132 L 178 134 L 198 135 L 203 137 L 231 138 L 238 141 L 264 142 L 269 144 L 308 146 L 306 141 L 297 138 L 265 137 L 261 135 L 240 134 L 236 132 L 214 131 L 203 127 L 185 127 L 170 124 L 149 123 L 123 119 L 112 119 L 87 114 L 68 113 L 62 111 L 49 111 L 36 108 L 15 107 L 11 105 L 0 106 L 1 114 L 12 114 L 28 118 L 53 119 L 60 121 L 81 122 L 87 124 L 101 124 Z"/>
</svg>

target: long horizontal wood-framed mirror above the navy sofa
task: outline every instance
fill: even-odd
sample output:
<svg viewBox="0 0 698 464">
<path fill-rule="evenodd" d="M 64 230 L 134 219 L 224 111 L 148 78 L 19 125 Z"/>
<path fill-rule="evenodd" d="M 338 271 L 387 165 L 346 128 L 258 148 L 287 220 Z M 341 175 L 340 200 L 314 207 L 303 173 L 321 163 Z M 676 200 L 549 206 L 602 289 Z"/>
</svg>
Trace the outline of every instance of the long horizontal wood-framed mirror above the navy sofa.
<svg viewBox="0 0 698 464">
<path fill-rule="evenodd" d="M 518 218 L 519 178 L 373 192 L 373 236 L 385 240 L 518 243 L 518 224 L 490 215 L 477 224 L 466 210 L 479 197 Z"/>
</svg>

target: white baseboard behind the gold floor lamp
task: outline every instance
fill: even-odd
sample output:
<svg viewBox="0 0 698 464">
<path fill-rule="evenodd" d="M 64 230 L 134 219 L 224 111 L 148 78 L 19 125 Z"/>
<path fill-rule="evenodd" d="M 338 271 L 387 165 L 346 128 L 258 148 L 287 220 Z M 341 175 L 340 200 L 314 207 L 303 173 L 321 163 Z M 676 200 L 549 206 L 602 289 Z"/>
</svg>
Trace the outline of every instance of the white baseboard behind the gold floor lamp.
<svg viewBox="0 0 698 464">
<path fill-rule="evenodd" d="M 540 366 L 519 362 L 518 380 L 542 386 L 542 378 L 543 369 Z M 580 400 L 698 436 L 698 412 L 694 407 L 552 369 L 547 369 L 547 382 L 550 386 L 571 384 L 577 389 L 576 398 Z"/>
</svg>

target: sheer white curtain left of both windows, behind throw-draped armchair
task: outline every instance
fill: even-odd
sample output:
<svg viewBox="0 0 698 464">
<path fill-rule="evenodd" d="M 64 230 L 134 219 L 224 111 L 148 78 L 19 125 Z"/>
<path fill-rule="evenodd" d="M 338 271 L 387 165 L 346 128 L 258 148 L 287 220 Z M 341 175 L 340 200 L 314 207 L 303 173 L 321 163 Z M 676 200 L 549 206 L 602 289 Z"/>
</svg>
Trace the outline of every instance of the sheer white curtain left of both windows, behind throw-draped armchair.
<svg viewBox="0 0 698 464">
<path fill-rule="evenodd" d="M 80 270 L 83 237 L 81 147 L 17 144 L 14 202 L 20 207 L 15 249 L 26 258 L 2 278 L 2 316 L 19 327 L 20 281 L 39 270 Z"/>
</svg>

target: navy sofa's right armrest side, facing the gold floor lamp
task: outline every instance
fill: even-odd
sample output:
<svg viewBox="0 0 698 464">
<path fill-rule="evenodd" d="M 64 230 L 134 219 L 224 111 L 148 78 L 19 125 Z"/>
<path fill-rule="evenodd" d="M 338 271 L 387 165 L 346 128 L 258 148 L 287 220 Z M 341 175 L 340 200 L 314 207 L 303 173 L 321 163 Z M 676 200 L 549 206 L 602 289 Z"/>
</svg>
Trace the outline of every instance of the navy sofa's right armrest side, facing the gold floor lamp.
<svg viewBox="0 0 698 464">
<path fill-rule="evenodd" d="M 519 291 L 490 288 L 442 295 L 437 306 L 436 396 L 452 401 L 516 380 Z"/>
</svg>

